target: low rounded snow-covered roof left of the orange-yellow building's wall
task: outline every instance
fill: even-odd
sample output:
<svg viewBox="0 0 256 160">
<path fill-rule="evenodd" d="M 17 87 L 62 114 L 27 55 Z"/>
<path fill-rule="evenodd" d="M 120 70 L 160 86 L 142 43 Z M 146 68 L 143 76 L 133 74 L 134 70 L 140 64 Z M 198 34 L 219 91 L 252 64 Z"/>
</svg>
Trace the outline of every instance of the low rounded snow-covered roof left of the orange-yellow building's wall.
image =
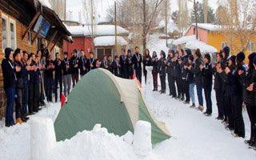
<svg viewBox="0 0 256 160">
<path fill-rule="evenodd" d="M 186 48 L 190 50 L 197 50 L 198 48 L 201 50 L 202 53 L 215 53 L 218 50 L 214 46 L 207 45 L 205 42 L 192 40 L 186 43 Z"/>
</svg>

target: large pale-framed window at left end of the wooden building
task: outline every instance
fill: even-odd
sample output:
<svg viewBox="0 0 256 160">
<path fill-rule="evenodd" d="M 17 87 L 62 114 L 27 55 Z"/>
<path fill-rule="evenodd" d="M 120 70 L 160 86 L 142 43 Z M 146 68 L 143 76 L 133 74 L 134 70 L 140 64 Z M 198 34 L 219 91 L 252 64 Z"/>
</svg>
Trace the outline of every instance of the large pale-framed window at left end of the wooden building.
<svg viewBox="0 0 256 160">
<path fill-rule="evenodd" d="M 6 47 L 15 50 L 16 46 L 16 22 L 6 14 L 2 14 L 2 50 Z"/>
</svg>

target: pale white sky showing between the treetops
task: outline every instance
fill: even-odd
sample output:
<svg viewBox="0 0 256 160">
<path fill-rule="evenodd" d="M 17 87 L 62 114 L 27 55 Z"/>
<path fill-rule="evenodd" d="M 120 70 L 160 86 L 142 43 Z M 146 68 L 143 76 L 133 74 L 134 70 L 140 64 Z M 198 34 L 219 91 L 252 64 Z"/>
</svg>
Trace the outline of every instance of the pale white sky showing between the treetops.
<svg viewBox="0 0 256 160">
<path fill-rule="evenodd" d="M 128 0 L 129 1 L 129 0 Z M 178 10 L 178 0 L 170 0 L 170 10 L 174 12 Z M 188 0 L 188 7 L 191 9 L 193 7 L 193 2 Z M 192 0 L 193 1 L 193 0 Z M 198 2 L 202 2 L 202 0 L 197 0 Z M 79 12 L 81 13 L 81 17 L 84 15 L 84 0 L 66 0 L 66 18 L 69 20 L 79 21 Z M 117 0 L 118 2 L 118 0 Z M 208 0 L 209 6 L 214 10 L 218 7 L 218 0 Z M 101 17 L 106 17 L 106 10 L 114 5 L 114 0 L 94 0 L 94 4 L 96 6 L 97 14 L 100 14 Z"/>
</svg>

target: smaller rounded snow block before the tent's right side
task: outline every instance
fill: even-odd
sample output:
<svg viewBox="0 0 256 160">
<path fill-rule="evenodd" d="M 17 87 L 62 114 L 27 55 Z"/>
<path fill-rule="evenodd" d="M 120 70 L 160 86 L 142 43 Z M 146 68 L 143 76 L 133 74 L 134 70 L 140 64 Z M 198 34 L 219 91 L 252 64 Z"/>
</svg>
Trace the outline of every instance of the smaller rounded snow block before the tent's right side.
<svg viewBox="0 0 256 160">
<path fill-rule="evenodd" d="M 146 156 L 150 153 L 152 150 L 150 122 L 138 121 L 136 123 L 133 147 L 135 154 Z"/>
</svg>

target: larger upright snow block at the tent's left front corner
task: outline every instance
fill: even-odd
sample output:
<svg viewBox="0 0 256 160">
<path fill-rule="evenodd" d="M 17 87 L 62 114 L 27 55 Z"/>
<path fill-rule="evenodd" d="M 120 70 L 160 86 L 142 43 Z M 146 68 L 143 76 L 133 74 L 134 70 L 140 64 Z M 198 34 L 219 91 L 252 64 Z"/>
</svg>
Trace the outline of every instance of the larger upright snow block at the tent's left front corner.
<svg viewBox="0 0 256 160">
<path fill-rule="evenodd" d="M 33 160 L 44 160 L 56 143 L 54 122 L 51 118 L 32 118 L 30 126 L 30 155 Z"/>
</svg>

